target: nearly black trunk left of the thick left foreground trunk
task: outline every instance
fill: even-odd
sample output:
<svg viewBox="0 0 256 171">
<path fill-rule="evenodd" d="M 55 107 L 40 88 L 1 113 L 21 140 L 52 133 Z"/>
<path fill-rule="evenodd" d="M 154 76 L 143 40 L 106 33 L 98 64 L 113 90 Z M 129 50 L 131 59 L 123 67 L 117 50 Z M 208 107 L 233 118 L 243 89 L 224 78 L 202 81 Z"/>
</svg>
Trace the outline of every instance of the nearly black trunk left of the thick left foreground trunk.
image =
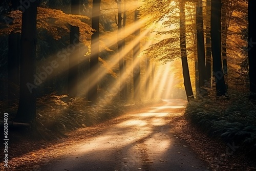
<svg viewBox="0 0 256 171">
<path fill-rule="evenodd" d="M 18 1 L 11 0 L 11 9 L 17 10 Z M 20 34 L 11 33 L 8 37 L 8 103 L 17 99 L 16 87 L 19 85 Z"/>
</svg>

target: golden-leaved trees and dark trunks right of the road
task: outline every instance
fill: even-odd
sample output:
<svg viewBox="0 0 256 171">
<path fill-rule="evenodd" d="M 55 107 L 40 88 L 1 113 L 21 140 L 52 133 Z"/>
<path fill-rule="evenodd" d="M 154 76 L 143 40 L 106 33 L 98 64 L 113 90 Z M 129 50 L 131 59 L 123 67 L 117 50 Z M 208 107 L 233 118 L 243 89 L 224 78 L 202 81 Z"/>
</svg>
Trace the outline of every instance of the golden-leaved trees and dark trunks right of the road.
<svg viewBox="0 0 256 171">
<path fill-rule="evenodd" d="M 164 28 L 176 26 L 167 31 L 159 31 L 159 35 L 170 36 L 149 48 L 147 54 L 163 61 L 174 60 L 181 56 L 188 99 L 194 98 L 190 81 L 191 73 L 187 63 L 191 58 L 195 61 L 196 67 L 194 70 L 197 95 L 207 96 L 208 90 L 215 87 L 217 96 L 228 96 L 229 86 L 238 84 L 234 82 L 235 80 L 244 82 L 248 80 L 249 98 L 255 99 L 253 76 L 255 61 L 252 57 L 255 56 L 253 50 L 255 24 L 251 19 L 254 15 L 252 10 L 255 7 L 254 2 L 229 0 L 143 2 L 146 5 L 142 7 L 142 17 L 154 15 L 151 23 L 164 20 Z M 158 11 L 147 14 L 147 11 L 157 4 Z M 180 48 L 174 46 L 176 44 L 180 44 Z M 165 47 L 168 53 L 160 55 L 157 52 L 159 46 Z M 189 56 L 190 59 L 187 53 L 192 54 Z"/>
</svg>

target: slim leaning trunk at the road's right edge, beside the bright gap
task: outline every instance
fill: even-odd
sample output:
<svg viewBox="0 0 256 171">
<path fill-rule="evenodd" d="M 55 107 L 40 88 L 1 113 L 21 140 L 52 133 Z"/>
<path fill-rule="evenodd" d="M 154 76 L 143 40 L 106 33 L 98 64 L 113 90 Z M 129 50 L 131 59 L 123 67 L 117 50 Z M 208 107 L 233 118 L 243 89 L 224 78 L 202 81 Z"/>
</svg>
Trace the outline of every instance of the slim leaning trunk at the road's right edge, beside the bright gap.
<svg viewBox="0 0 256 171">
<path fill-rule="evenodd" d="M 191 87 L 188 63 L 187 63 L 187 52 L 186 52 L 186 16 L 185 16 L 185 4 L 180 4 L 180 50 L 181 50 L 181 62 L 182 62 L 182 73 L 184 78 L 184 87 L 186 91 L 187 100 L 194 99 L 193 90 Z"/>
</svg>

